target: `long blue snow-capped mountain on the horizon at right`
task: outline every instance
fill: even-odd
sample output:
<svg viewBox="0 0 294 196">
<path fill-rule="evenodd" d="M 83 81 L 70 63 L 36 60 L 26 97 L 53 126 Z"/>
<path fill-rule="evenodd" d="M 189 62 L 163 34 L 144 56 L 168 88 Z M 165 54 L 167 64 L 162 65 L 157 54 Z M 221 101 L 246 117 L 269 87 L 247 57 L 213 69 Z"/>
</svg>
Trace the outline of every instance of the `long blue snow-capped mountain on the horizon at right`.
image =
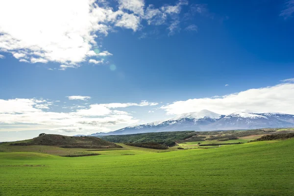
<svg viewBox="0 0 294 196">
<path fill-rule="evenodd" d="M 266 127 L 294 127 L 294 115 L 283 113 L 256 113 L 251 111 L 221 115 L 209 110 L 201 110 L 199 112 L 181 114 L 168 121 L 127 126 L 116 131 L 95 133 L 90 136 L 186 130 L 211 131 L 255 129 Z"/>
</svg>

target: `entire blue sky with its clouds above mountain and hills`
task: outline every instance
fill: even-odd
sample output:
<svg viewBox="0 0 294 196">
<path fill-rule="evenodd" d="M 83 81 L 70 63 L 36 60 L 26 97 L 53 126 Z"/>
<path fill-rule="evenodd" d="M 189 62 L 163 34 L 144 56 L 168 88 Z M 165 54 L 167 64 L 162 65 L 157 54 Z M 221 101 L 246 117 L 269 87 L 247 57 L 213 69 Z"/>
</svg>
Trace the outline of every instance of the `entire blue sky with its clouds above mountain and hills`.
<svg viewBox="0 0 294 196">
<path fill-rule="evenodd" d="M 294 114 L 294 0 L 22 3 L 0 2 L 0 141 Z"/>
</svg>

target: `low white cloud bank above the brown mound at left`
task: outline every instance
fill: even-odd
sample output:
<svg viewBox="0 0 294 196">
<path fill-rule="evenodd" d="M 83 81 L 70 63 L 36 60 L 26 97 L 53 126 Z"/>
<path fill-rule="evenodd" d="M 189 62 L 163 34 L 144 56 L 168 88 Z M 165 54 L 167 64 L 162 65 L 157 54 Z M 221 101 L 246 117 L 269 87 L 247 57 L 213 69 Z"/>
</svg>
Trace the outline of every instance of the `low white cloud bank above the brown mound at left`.
<svg viewBox="0 0 294 196">
<path fill-rule="evenodd" d="M 129 113 L 114 108 L 147 106 L 152 103 L 108 103 L 85 106 L 73 105 L 73 112 L 51 112 L 49 105 L 55 101 L 43 99 L 0 99 L 0 124 L 12 130 L 56 130 L 64 132 L 110 131 L 114 126 L 138 123 Z M 26 124 L 29 127 L 24 128 Z M 23 129 L 20 129 L 23 127 Z M 1 129 L 0 129 L 1 130 Z"/>
</svg>

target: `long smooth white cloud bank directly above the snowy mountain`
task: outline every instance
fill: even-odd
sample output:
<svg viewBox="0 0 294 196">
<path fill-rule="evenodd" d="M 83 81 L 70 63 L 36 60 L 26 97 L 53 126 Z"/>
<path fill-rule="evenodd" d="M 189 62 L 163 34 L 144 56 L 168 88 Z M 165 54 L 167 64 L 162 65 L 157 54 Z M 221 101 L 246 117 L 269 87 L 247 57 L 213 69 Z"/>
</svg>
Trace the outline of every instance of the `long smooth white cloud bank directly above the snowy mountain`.
<svg viewBox="0 0 294 196">
<path fill-rule="evenodd" d="M 196 112 L 202 109 L 219 114 L 235 111 L 255 110 L 258 112 L 281 112 L 294 114 L 294 84 L 283 83 L 259 89 L 249 89 L 239 93 L 215 98 L 194 98 L 175 101 L 162 106 L 167 114 Z"/>
</svg>

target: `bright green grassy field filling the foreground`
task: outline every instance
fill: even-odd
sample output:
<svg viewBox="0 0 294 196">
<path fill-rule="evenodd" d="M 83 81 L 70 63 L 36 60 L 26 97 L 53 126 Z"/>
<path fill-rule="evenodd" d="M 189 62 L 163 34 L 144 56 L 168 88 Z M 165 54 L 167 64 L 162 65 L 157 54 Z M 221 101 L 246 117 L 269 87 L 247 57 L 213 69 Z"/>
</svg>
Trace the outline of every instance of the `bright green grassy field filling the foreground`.
<svg viewBox="0 0 294 196">
<path fill-rule="evenodd" d="M 75 158 L 2 152 L 0 195 L 294 195 L 294 139 L 164 153 L 129 149 L 133 156 L 111 151 Z"/>
</svg>

